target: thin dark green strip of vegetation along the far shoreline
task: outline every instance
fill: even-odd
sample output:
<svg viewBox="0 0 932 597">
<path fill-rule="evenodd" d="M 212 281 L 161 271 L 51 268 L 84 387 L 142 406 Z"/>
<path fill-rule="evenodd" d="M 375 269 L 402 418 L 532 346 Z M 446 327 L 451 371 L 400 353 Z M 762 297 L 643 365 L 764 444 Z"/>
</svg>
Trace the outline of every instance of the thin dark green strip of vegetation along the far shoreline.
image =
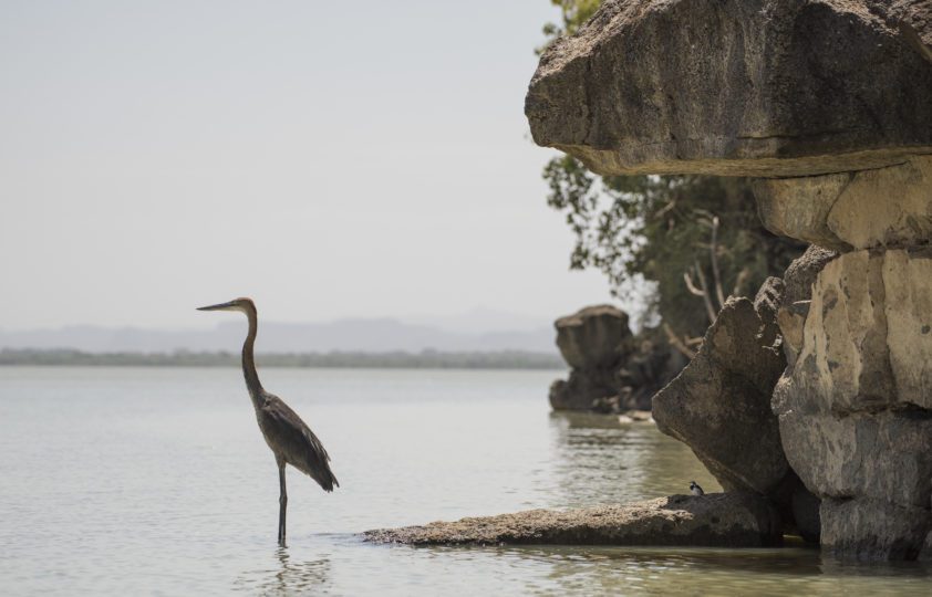
<svg viewBox="0 0 932 597">
<path fill-rule="evenodd" d="M 176 350 L 174 353 L 85 353 L 68 348 L 3 348 L 0 366 L 87 367 L 239 367 L 239 353 Z M 373 369 L 566 369 L 556 354 L 526 350 L 488 353 L 268 353 L 256 355 L 266 367 Z"/>
</svg>

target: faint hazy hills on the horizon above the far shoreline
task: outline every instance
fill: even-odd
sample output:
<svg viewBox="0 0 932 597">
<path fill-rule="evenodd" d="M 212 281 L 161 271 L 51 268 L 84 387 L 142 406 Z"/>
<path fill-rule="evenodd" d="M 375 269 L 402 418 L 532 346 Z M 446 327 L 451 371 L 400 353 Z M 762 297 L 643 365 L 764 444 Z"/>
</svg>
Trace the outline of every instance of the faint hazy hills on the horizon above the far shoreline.
<svg viewBox="0 0 932 597">
<path fill-rule="evenodd" d="M 85 353 L 236 352 L 246 321 L 224 322 L 209 329 L 145 329 L 69 326 L 59 329 L 0 329 L 0 348 L 58 349 Z M 518 331 L 449 331 L 436 325 L 394 318 L 341 320 L 331 323 L 262 322 L 257 353 L 483 353 L 518 350 L 557 354 L 553 328 L 543 325 Z"/>
</svg>

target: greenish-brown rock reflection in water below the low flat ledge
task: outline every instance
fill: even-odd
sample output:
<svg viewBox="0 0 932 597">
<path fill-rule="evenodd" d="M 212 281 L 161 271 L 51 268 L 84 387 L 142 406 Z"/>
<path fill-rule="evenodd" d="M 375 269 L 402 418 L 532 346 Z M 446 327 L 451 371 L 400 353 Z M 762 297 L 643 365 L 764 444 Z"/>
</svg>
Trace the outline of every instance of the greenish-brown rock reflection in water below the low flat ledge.
<svg viewBox="0 0 932 597">
<path fill-rule="evenodd" d="M 494 554 L 494 555 L 493 555 Z M 545 567 L 553 593 L 650 595 L 929 595 L 929 566 L 838 565 L 817 548 L 498 547 L 515 568 Z"/>
</svg>

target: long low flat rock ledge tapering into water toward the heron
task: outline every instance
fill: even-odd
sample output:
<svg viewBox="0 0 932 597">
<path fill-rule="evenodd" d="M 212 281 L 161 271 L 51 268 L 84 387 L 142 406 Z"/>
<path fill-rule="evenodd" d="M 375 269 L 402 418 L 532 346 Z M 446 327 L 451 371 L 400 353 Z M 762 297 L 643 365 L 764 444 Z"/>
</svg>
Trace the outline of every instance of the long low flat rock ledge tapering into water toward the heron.
<svg viewBox="0 0 932 597">
<path fill-rule="evenodd" d="M 648 502 L 435 522 L 367 531 L 365 541 L 408 545 L 677 545 L 764 547 L 783 541 L 769 502 L 748 493 L 672 495 Z"/>
</svg>

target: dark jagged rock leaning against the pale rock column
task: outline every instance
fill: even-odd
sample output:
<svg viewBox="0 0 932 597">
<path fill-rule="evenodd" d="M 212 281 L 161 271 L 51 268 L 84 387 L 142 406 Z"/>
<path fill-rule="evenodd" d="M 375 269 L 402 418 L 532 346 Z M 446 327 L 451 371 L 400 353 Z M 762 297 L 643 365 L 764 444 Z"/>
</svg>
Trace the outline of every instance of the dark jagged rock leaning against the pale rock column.
<svg viewBox="0 0 932 597">
<path fill-rule="evenodd" d="M 790 469 L 770 409 L 786 368 L 776 323 L 785 292 L 784 281 L 770 277 L 754 303 L 728 298 L 696 357 L 654 396 L 653 417 L 661 431 L 692 448 L 726 491 L 767 495 L 787 531 L 815 542 L 819 501 Z"/>
</svg>

